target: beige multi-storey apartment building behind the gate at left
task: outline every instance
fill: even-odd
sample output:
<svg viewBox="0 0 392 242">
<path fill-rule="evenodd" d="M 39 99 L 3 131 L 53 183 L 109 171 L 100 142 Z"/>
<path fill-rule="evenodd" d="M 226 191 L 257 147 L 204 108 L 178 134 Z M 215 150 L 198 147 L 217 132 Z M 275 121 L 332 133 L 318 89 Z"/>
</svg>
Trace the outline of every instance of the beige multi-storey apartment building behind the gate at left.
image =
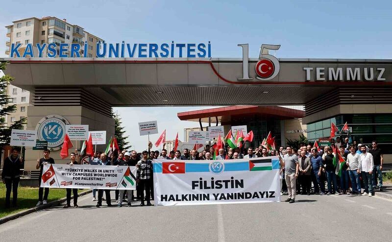
<svg viewBox="0 0 392 242">
<path fill-rule="evenodd" d="M 41 19 L 32 17 L 17 20 L 5 27 L 7 28 L 6 37 L 9 38 L 5 43 L 6 47 L 8 47 L 8 49 L 5 50 L 6 55 L 10 55 L 12 44 L 21 44 L 20 51 L 23 52 L 26 45 L 32 43 L 35 54 L 38 52 L 35 47 L 35 44 L 37 43 L 56 43 L 58 48 L 60 43 L 77 43 L 83 45 L 87 41 L 89 45 L 87 57 L 92 58 L 97 54 L 95 48 L 96 43 L 102 41 L 101 38 L 85 31 L 80 25 L 70 24 L 66 19 L 61 20 L 50 16 Z M 44 50 L 44 56 L 47 54 L 45 51 L 46 50 Z M 81 56 L 83 56 L 83 51 L 83 49 L 80 50 Z M 69 51 L 66 53 L 69 54 Z M 10 84 L 7 89 L 7 95 L 12 98 L 12 104 L 17 105 L 16 112 L 7 116 L 7 126 L 9 126 L 12 122 L 27 117 L 30 93 Z"/>
</svg>

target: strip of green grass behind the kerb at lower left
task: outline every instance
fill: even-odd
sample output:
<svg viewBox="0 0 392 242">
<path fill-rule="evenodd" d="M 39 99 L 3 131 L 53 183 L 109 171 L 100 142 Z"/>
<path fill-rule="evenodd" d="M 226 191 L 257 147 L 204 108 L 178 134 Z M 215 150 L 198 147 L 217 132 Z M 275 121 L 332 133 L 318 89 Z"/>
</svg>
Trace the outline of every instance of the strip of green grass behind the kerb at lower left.
<svg viewBox="0 0 392 242">
<path fill-rule="evenodd" d="M 87 191 L 79 190 L 79 193 Z M 50 189 L 48 202 L 61 199 L 67 195 L 65 189 Z M 18 207 L 5 209 L 5 184 L 0 182 L 0 218 L 33 208 L 38 202 L 38 188 L 18 187 Z M 12 204 L 12 192 L 11 192 Z"/>
</svg>

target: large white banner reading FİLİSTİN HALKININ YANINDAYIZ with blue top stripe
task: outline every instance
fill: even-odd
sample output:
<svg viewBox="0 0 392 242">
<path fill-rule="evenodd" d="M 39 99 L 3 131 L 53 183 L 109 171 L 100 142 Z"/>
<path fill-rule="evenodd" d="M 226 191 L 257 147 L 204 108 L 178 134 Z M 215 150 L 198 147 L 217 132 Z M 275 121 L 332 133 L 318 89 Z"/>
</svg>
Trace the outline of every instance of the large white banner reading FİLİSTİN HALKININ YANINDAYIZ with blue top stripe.
<svg viewBox="0 0 392 242">
<path fill-rule="evenodd" d="M 277 156 L 153 164 L 155 205 L 280 201 Z"/>
</svg>

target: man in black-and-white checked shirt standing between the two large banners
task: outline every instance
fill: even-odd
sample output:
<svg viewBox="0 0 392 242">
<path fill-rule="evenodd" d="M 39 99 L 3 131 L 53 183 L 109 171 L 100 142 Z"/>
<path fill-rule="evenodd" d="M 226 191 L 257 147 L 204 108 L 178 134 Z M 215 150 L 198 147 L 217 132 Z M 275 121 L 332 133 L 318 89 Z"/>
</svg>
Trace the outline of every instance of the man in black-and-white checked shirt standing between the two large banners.
<svg viewBox="0 0 392 242">
<path fill-rule="evenodd" d="M 144 191 L 146 191 L 147 206 L 152 206 L 150 203 L 150 189 L 152 186 L 152 161 L 149 160 L 147 150 L 142 152 L 143 158 L 138 162 L 136 169 L 136 182 L 140 189 L 140 206 L 144 204 Z"/>
</svg>

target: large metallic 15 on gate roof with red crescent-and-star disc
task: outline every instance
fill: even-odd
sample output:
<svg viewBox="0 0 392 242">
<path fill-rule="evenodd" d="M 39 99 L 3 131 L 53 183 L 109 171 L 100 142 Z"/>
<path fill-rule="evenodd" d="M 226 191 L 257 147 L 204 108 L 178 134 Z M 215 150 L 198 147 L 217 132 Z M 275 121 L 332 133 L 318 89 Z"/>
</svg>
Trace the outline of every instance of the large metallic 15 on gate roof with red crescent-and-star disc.
<svg viewBox="0 0 392 242">
<path fill-rule="evenodd" d="M 238 78 L 239 81 L 244 80 L 253 80 L 253 78 L 249 77 L 249 45 L 248 44 L 239 44 L 238 46 L 242 47 L 242 58 L 243 58 L 243 76 L 242 78 Z M 264 49 L 270 50 L 278 50 L 280 45 L 261 45 L 259 61 L 256 63 L 255 71 L 256 78 L 262 81 L 268 81 L 273 79 L 278 75 L 280 70 L 280 65 L 278 59 L 275 56 L 270 54 L 263 54 Z"/>
</svg>

